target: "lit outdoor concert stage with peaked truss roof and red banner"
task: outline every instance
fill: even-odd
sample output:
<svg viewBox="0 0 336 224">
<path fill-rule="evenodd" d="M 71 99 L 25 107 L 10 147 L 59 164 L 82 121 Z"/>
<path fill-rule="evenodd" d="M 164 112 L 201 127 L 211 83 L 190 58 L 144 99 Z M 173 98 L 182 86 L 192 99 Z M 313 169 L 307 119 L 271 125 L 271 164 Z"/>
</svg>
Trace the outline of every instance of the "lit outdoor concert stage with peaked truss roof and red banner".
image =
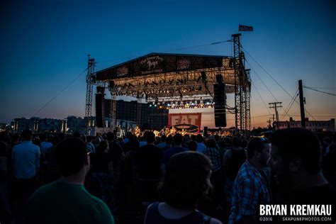
<svg viewBox="0 0 336 224">
<path fill-rule="evenodd" d="M 226 113 L 235 113 L 240 125 L 250 122 L 250 77 L 242 59 L 241 55 L 150 53 L 94 73 L 94 84 L 108 89 L 114 102 L 116 96 L 133 96 L 138 104 L 145 99 L 169 109 L 168 125 L 225 128 Z M 103 91 L 97 94 L 104 96 Z M 226 94 L 235 94 L 235 102 L 230 103 L 235 108 L 227 106 Z M 111 103 L 112 121 L 115 116 L 116 103 Z"/>
</svg>

